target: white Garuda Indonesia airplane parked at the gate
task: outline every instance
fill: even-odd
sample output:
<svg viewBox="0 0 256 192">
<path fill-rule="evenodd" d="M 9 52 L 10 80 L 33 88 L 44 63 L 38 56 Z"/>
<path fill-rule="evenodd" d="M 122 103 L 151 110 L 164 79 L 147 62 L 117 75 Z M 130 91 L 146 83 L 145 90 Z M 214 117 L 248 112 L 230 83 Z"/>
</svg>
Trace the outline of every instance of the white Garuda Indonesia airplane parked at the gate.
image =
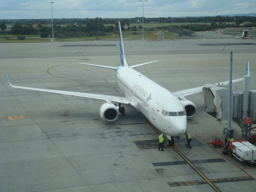
<svg viewBox="0 0 256 192">
<path fill-rule="evenodd" d="M 121 107 L 121 104 L 132 106 L 140 111 L 160 132 L 165 130 L 169 144 L 174 144 L 173 137 L 184 134 L 187 127 L 187 118 L 190 118 L 196 114 L 195 104 L 189 100 L 186 100 L 184 96 L 201 92 L 203 86 L 177 92 L 170 92 L 140 72 L 134 70 L 136 67 L 157 62 L 158 60 L 128 66 L 124 55 L 120 22 L 118 22 L 118 25 L 121 64 L 118 67 L 86 63 L 80 64 L 116 70 L 117 84 L 119 88 L 124 92 L 125 97 L 15 86 L 11 83 L 8 70 L 6 69 L 10 86 L 13 88 L 104 100 L 104 103 L 100 107 L 100 117 L 106 121 L 116 120 L 119 116 L 119 113 L 122 115 L 125 114 L 124 107 Z M 243 78 L 240 78 L 233 80 L 232 82 L 238 82 L 242 80 Z M 226 81 L 220 84 L 228 83 L 229 82 Z"/>
</svg>

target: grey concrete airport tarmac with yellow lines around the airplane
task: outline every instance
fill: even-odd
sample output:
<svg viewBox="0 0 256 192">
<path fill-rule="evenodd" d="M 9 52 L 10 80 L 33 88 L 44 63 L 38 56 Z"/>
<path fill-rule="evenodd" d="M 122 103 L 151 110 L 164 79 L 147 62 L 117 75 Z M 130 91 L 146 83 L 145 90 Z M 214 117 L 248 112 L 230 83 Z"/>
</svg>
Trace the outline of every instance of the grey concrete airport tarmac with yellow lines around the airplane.
<svg viewBox="0 0 256 192">
<path fill-rule="evenodd" d="M 203 45 L 202 45 L 203 44 Z M 186 97 L 197 106 L 185 136 L 158 151 L 158 133 L 133 108 L 115 122 L 100 118 L 102 101 L 10 87 L 20 86 L 110 94 L 120 91 L 114 70 L 78 62 L 117 66 L 118 41 L 0 44 L 1 192 L 253 191 L 256 166 L 222 155 L 208 144 L 224 140 L 222 128 L 203 114 L 202 93 Z M 256 40 L 188 39 L 124 41 L 128 64 L 170 91 L 233 79 L 250 62 L 256 90 Z M 242 82 L 233 84 L 242 90 Z M 120 91 L 122 94 L 122 92 Z M 9 119 L 8 119 L 9 117 Z M 240 128 L 232 123 L 232 127 Z M 238 135 L 239 136 L 239 135 Z"/>
</svg>

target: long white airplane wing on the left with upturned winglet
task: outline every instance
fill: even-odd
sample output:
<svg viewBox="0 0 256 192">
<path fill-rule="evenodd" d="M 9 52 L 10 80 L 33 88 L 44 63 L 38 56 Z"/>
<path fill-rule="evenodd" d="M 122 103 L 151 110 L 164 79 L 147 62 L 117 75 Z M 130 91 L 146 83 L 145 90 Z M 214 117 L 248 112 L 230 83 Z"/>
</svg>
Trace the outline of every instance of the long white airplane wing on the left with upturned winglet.
<svg viewBox="0 0 256 192">
<path fill-rule="evenodd" d="M 28 89 L 28 90 L 35 90 L 35 91 L 42 91 L 42 92 L 49 92 L 49 93 L 57 93 L 57 94 L 64 94 L 64 95 L 72 95 L 78 97 L 86 97 L 86 98 L 93 98 L 99 100 L 110 100 L 112 102 L 117 102 L 120 104 L 134 106 L 132 100 L 125 97 L 119 96 L 112 96 L 112 95 L 102 95 L 102 94 L 92 94 L 92 93 L 82 93 L 82 92 L 72 92 L 72 91 L 62 91 L 62 90 L 52 90 L 52 89 L 44 89 L 44 88 L 32 88 L 32 87 L 23 87 L 23 86 L 15 86 L 11 83 L 10 76 L 8 74 L 8 70 L 6 69 L 9 84 L 13 88 L 19 89 Z"/>
</svg>

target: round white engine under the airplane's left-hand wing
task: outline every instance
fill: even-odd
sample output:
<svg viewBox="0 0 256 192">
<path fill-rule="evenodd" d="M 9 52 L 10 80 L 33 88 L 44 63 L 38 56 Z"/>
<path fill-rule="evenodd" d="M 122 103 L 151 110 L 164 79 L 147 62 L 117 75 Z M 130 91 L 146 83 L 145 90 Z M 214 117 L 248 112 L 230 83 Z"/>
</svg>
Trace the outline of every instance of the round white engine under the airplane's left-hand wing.
<svg viewBox="0 0 256 192">
<path fill-rule="evenodd" d="M 100 117 L 106 121 L 114 121 L 119 116 L 118 108 L 112 103 L 104 103 L 100 106 Z"/>
</svg>

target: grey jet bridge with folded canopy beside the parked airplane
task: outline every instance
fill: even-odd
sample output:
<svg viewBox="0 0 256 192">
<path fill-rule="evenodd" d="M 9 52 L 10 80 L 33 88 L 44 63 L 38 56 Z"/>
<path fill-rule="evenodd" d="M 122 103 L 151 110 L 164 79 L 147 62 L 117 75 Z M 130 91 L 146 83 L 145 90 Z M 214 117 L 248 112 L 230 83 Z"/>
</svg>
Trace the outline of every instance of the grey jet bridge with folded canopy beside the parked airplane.
<svg viewBox="0 0 256 192">
<path fill-rule="evenodd" d="M 229 89 L 225 86 L 205 84 L 203 87 L 204 114 L 218 121 L 228 120 L 228 94 Z M 246 140 L 248 132 L 250 134 L 250 131 L 256 128 L 251 126 L 256 124 L 256 90 L 248 90 L 248 94 L 232 90 L 231 100 L 231 120 L 242 128 L 242 138 Z M 244 100 L 248 100 L 248 103 Z M 248 117 L 253 120 L 252 124 L 244 124 L 244 119 Z M 223 131 L 228 134 L 226 128 Z M 233 138 L 236 138 L 236 130 L 228 131 Z"/>
</svg>

